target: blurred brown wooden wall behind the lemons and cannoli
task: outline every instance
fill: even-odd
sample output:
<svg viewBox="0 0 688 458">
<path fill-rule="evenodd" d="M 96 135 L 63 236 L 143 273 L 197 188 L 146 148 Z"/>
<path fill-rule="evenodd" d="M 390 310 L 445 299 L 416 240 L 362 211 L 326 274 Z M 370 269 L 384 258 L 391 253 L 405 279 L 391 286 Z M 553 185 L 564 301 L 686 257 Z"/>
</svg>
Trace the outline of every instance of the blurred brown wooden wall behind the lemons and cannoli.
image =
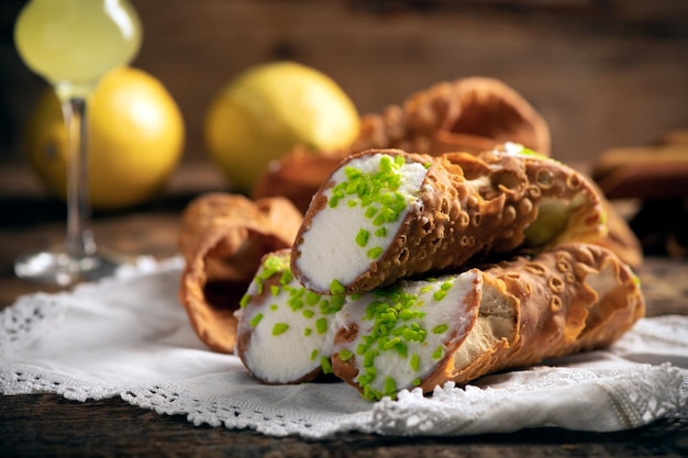
<svg viewBox="0 0 688 458">
<path fill-rule="evenodd" d="M 43 82 L 14 52 L 24 0 L 0 5 L 0 166 Z M 241 70 L 289 58 L 332 76 L 362 113 L 442 80 L 502 79 L 550 123 L 553 153 L 587 160 L 688 127 L 687 0 L 133 0 L 134 66 L 180 105 L 185 159 L 204 160 L 203 114 Z M 2 183 L 0 183 L 0 187 Z"/>
</svg>

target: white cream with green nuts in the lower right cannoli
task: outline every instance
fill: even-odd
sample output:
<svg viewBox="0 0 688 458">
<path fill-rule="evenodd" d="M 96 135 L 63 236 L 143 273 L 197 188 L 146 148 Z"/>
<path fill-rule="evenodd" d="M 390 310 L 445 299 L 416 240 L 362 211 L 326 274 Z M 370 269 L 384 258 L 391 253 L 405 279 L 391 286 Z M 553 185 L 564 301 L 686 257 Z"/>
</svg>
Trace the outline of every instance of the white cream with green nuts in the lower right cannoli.
<svg viewBox="0 0 688 458">
<path fill-rule="evenodd" d="M 436 369 L 447 349 L 468 334 L 475 322 L 478 308 L 470 308 L 467 298 L 481 288 L 480 278 L 469 270 L 432 281 L 400 280 L 380 291 L 400 290 L 402 294 L 365 293 L 336 313 L 334 327 L 349 329 L 356 325 L 358 333 L 351 342 L 337 342 L 332 351 L 344 360 L 355 357 L 355 381 L 365 398 L 393 396 L 398 390 L 420 384 Z M 385 301 L 388 304 L 380 306 Z M 395 306 L 399 303 L 404 305 Z M 395 308 L 396 321 L 382 316 Z M 422 338 L 418 338 L 419 333 Z"/>
</svg>

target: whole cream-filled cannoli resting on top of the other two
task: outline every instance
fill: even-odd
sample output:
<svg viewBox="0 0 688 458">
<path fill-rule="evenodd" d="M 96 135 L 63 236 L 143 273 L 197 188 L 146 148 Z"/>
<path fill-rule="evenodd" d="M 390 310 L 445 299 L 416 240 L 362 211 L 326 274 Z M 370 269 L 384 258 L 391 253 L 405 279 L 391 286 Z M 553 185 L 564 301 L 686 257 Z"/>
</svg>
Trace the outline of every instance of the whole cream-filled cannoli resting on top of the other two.
<svg viewBox="0 0 688 458">
<path fill-rule="evenodd" d="M 374 149 L 346 159 L 313 197 L 291 269 L 312 291 L 352 294 L 604 233 L 587 179 L 519 145 L 478 156 Z"/>
</svg>

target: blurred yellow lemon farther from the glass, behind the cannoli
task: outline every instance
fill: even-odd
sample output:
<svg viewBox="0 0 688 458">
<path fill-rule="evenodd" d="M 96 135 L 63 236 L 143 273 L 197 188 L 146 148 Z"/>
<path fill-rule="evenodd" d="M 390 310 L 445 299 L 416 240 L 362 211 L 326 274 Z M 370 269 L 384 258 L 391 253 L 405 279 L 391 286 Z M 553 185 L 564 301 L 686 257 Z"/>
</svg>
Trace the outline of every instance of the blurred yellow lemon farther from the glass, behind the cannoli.
<svg viewBox="0 0 688 458">
<path fill-rule="evenodd" d="M 297 145 L 346 147 L 360 119 L 344 90 L 323 72 L 293 62 L 256 65 L 230 80 L 203 120 L 210 158 L 238 190 L 248 191 L 267 165 Z"/>
</svg>

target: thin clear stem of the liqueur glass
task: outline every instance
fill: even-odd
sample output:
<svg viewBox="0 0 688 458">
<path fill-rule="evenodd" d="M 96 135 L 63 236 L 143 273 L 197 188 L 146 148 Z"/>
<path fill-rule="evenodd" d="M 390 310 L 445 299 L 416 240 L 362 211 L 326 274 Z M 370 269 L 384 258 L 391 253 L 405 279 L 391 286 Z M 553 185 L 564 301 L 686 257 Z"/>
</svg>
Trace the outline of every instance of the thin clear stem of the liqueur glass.
<svg viewBox="0 0 688 458">
<path fill-rule="evenodd" d="M 96 253 L 90 228 L 91 209 L 88 196 L 88 143 L 86 99 L 73 97 L 62 101 L 67 126 L 67 239 L 70 256 L 82 258 Z"/>
</svg>

